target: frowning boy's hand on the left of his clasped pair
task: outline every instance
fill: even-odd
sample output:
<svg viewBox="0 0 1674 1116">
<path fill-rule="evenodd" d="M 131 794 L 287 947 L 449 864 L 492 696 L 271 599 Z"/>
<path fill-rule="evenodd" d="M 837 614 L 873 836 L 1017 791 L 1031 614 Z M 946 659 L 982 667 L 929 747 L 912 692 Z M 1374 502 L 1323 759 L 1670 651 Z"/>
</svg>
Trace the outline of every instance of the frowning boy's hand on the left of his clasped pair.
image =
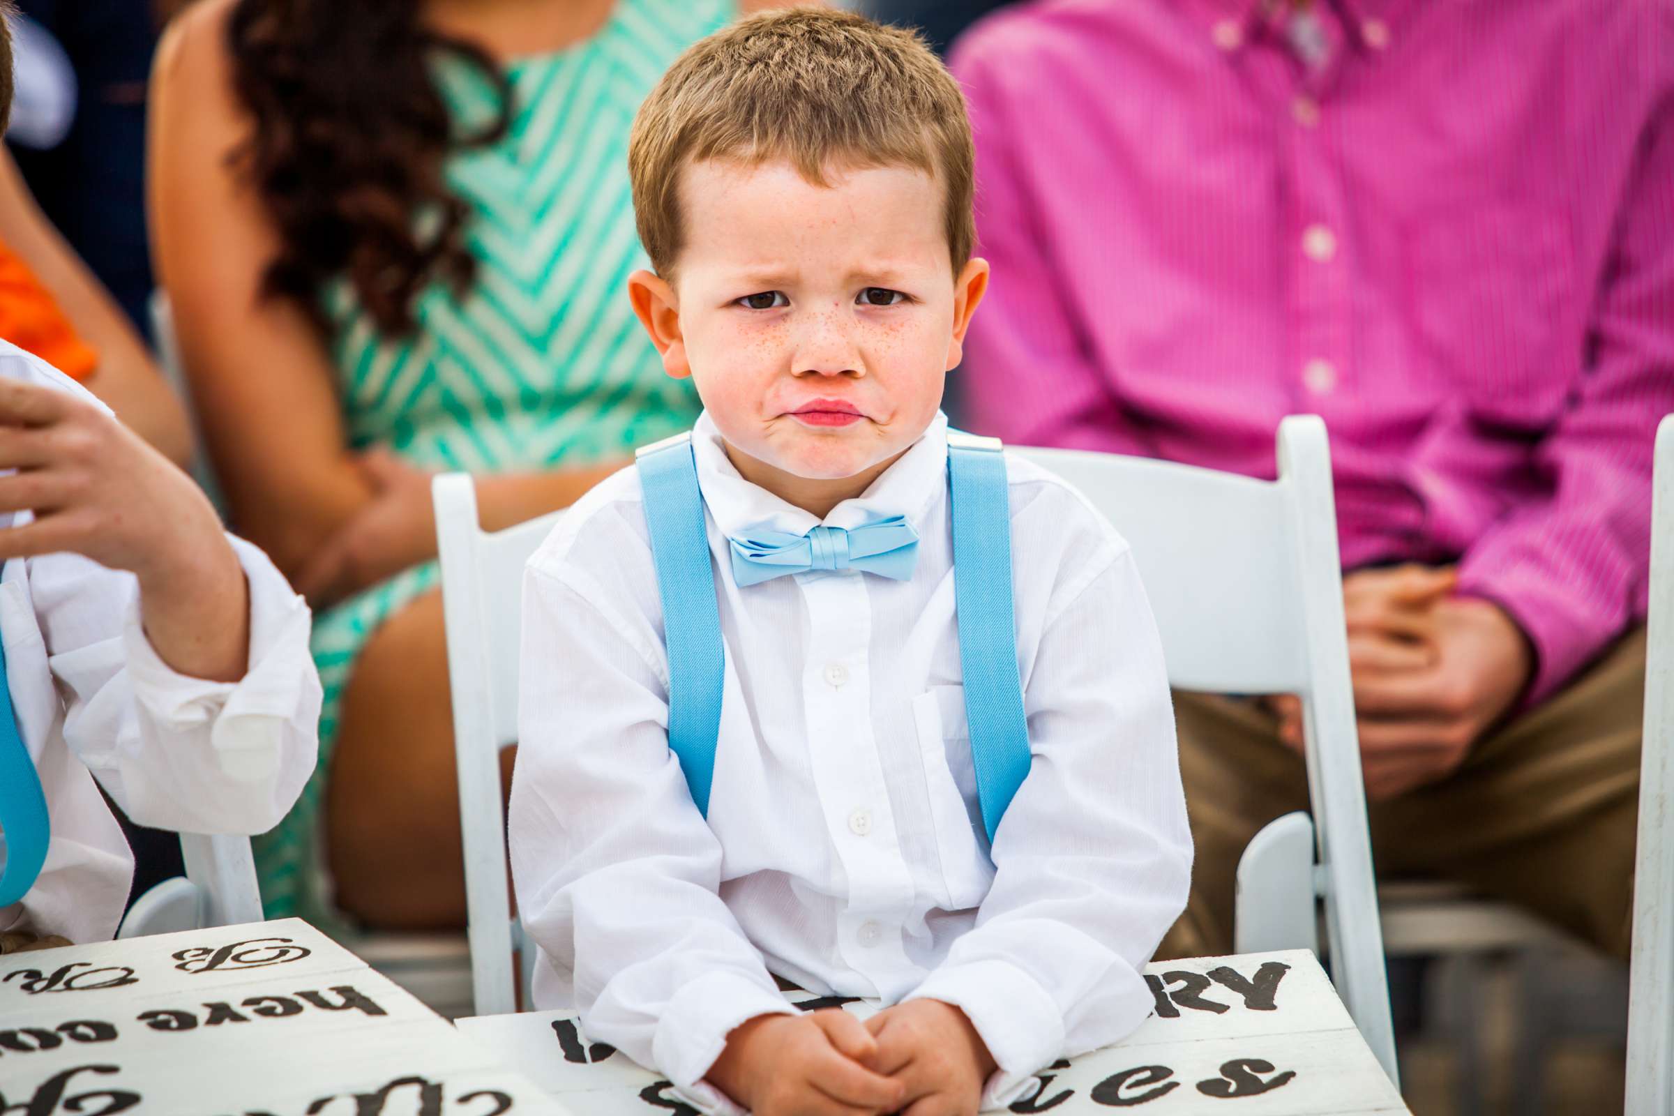
<svg viewBox="0 0 1674 1116">
<path fill-rule="evenodd" d="M 840 1007 L 757 1016 L 727 1036 L 705 1079 L 755 1116 L 879 1116 L 901 1109 L 904 1089 L 862 1064 L 877 1052 Z"/>
</svg>

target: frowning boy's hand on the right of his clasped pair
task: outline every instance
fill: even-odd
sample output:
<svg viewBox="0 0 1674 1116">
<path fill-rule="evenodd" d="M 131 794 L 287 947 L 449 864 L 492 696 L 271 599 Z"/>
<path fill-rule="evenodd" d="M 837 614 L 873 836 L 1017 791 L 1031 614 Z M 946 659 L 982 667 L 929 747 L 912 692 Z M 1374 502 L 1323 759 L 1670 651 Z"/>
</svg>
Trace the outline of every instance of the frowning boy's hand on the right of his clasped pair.
<svg viewBox="0 0 1674 1116">
<path fill-rule="evenodd" d="M 994 1056 L 969 1017 L 934 999 L 907 1001 L 865 1021 L 877 1052 L 862 1061 L 904 1086 L 902 1116 L 976 1116 Z"/>
</svg>

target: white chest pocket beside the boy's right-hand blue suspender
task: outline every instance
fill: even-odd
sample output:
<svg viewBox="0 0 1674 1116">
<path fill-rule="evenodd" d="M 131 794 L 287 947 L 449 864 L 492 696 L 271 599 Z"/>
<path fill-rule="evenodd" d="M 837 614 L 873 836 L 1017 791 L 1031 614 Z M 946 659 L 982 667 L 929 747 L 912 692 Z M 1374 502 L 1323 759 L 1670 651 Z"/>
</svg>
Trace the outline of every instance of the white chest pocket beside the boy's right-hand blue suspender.
<svg viewBox="0 0 1674 1116">
<path fill-rule="evenodd" d="M 912 699 L 912 719 L 941 858 L 944 910 L 968 910 L 988 895 L 994 882 L 994 862 L 989 858 L 988 833 L 976 803 L 964 688 L 932 686 L 924 691 Z"/>
</svg>

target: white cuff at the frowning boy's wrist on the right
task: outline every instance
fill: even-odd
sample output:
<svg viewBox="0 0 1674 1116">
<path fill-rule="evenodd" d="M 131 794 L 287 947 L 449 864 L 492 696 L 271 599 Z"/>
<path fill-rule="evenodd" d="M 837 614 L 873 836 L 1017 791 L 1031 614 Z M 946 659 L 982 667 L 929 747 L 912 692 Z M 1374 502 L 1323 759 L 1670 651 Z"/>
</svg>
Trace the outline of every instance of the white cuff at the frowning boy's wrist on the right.
<svg viewBox="0 0 1674 1116">
<path fill-rule="evenodd" d="M 906 999 L 953 1004 L 966 1014 L 999 1066 L 983 1086 L 983 1111 L 1009 1108 L 1040 1089 L 1036 1072 L 1063 1052 L 1058 1001 L 1004 960 L 942 965 Z"/>
</svg>

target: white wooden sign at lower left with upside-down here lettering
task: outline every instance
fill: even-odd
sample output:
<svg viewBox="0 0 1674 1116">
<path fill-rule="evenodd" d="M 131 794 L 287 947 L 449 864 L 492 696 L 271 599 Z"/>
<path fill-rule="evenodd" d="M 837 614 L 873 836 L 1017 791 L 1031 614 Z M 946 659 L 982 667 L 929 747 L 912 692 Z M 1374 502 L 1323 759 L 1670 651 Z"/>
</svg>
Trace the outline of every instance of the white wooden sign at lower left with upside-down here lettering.
<svg viewBox="0 0 1674 1116">
<path fill-rule="evenodd" d="M 0 1116 L 567 1116 L 300 919 L 0 957 Z"/>
</svg>

